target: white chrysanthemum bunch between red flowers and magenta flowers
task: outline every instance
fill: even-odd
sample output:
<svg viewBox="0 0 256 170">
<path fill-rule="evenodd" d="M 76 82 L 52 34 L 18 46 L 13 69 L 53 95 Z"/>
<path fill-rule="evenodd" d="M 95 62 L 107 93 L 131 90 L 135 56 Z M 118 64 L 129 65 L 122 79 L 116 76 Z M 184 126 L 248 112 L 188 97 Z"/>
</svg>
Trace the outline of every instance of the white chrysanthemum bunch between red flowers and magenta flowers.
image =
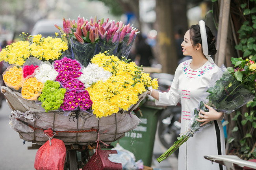
<svg viewBox="0 0 256 170">
<path fill-rule="evenodd" d="M 35 78 L 42 83 L 45 83 L 46 80 L 55 81 L 57 76 L 58 72 L 49 64 L 43 63 L 39 69 L 35 69 Z"/>
</svg>

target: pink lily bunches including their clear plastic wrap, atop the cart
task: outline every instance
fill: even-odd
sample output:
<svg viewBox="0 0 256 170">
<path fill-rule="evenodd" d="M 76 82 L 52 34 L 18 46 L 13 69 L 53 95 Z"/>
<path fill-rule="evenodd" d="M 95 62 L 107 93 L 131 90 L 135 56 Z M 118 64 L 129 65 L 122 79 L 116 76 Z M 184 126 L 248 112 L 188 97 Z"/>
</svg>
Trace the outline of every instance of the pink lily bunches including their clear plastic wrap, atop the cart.
<svg viewBox="0 0 256 170">
<path fill-rule="evenodd" d="M 134 39 L 139 33 L 133 25 L 124 25 L 122 21 L 104 21 L 91 17 L 89 20 L 78 16 L 77 21 L 63 18 L 63 29 L 56 27 L 63 35 L 67 35 L 69 57 L 79 60 L 83 66 L 99 52 L 109 51 L 110 55 L 128 57 Z"/>
</svg>

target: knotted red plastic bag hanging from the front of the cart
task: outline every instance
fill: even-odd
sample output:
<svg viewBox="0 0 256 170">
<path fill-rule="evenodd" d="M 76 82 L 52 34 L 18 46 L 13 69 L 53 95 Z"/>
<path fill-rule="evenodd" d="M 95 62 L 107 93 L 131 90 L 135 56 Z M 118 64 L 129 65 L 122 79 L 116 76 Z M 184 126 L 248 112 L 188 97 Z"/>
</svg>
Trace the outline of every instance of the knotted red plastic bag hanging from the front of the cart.
<svg viewBox="0 0 256 170">
<path fill-rule="evenodd" d="M 34 167 L 36 170 L 63 170 L 66 147 L 63 141 L 59 139 L 52 139 L 53 131 L 44 131 L 49 140 L 43 144 L 35 155 Z"/>
</svg>

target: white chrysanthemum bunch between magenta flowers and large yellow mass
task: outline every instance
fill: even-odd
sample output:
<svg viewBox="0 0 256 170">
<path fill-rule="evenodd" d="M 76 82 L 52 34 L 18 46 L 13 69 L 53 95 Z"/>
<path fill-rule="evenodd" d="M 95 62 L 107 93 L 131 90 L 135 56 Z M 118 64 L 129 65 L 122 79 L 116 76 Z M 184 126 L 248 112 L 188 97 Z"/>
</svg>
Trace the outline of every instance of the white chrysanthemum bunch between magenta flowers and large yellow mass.
<svg viewBox="0 0 256 170">
<path fill-rule="evenodd" d="M 103 68 L 99 67 L 98 64 L 89 64 L 86 68 L 82 69 L 82 75 L 78 77 L 78 80 L 83 82 L 85 88 L 89 88 L 93 83 L 98 80 L 105 82 L 112 73 L 105 71 Z"/>
</svg>

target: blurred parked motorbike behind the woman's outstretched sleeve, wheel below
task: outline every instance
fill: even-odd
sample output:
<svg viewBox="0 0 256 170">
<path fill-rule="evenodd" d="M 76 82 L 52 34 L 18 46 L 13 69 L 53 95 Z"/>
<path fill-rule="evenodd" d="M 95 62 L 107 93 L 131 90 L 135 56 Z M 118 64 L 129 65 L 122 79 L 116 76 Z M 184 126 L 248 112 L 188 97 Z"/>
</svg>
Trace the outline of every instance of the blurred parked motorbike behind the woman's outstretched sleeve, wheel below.
<svg viewBox="0 0 256 170">
<path fill-rule="evenodd" d="M 161 92 L 169 91 L 174 79 L 174 75 L 167 73 L 152 73 L 152 78 L 158 79 L 158 89 Z M 158 137 L 161 144 L 169 149 L 173 143 L 180 136 L 180 124 L 181 122 L 181 104 L 176 106 L 167 106 L 160 113 L 158 122 Z M 174 155 L 178 157 L 178 149 L 174 152 Z"/>
</svg>

